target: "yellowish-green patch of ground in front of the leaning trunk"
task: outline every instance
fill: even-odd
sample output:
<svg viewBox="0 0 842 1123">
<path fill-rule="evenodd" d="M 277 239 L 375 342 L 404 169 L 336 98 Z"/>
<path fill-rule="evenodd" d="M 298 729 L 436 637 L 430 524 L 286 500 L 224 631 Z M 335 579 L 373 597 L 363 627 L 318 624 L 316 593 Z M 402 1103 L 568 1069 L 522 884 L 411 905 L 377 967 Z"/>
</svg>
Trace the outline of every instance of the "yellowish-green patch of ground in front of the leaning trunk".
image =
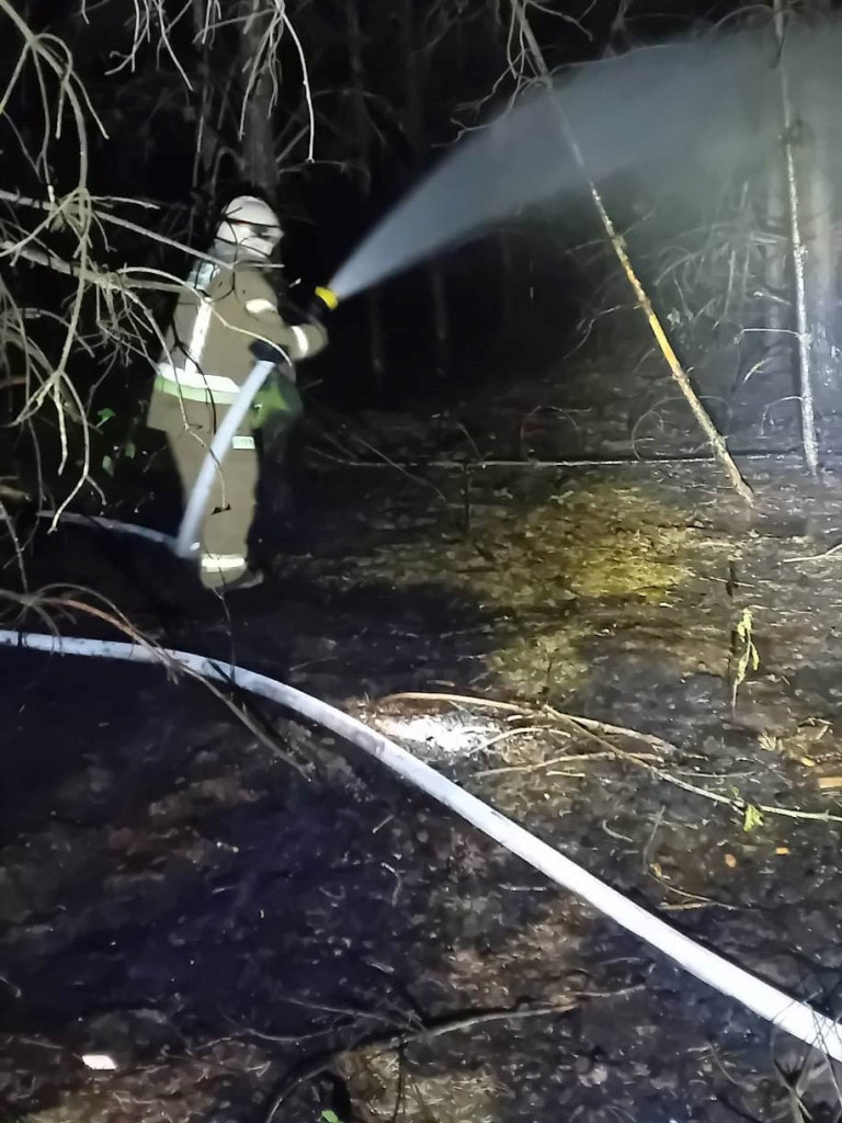
<svg viewBox="0 0 842 1123">
<path fill-rule="evenodd" d="M 602 481 L 525 513 L 477 508 L 469 536 L 440 531 L 378 545 L 357 564 L 395 590 L 445 586 L 494 610 L 501 627 L 488 672 L 534 697 L 550 679 L 568 690 L 582 681 L 583 647 L 606 605 L 620 618 L 623 604 L 661 604 L 705 553 L 710 539 L 680 512 L 641 489 Z"/>
</svg>

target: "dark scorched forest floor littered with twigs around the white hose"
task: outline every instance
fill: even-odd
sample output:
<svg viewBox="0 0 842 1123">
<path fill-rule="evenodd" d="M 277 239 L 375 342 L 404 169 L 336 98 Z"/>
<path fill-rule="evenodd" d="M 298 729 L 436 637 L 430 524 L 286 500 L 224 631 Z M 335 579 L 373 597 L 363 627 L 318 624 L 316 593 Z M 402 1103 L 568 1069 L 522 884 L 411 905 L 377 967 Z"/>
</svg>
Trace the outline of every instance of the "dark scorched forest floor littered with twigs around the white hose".
<svg viewBox="0 0 842 1123">
<path fill-rule="evenodd" d="M 604 405 L 597 453 L 628 454 Z M 505 459 L 518 417 L 503 445 L 452 429 Z M 230 618 L 176 614 L 172 564 L 77 528 L 35 541 L 33 581 L 353 710 L 839 1012 L 842 482 L 747 460 L 749 512 L 696 462 L 395 468 L 430 432 L 399 420 L 355 423 L 376 467 L 344 463 L 348 429 L 313 450 L 298 550 Z M 153 667 L 6 650 L 0 674 L 3 1119 L 836 1119 L 815 1059 L 354 749 Z M 408 691 L 476 701 L 383 701 Z"/>
</svg>

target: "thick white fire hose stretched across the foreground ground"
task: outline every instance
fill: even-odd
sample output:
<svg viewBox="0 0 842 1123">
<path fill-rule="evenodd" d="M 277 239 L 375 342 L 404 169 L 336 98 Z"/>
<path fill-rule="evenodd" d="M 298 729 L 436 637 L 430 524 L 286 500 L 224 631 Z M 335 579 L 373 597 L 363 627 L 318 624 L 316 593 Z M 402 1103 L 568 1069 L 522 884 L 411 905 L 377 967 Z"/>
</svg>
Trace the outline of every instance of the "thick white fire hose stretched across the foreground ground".
<svg viewBox="0 0 842 1123">
<path fill-rule="evenodd" d="M 456 812 L 466 822 L 540 870 L 550 880 L 587 901 L 594 909 L 657 948 L 703 983 L 742 1003 L 754 1014 L 805 1044 L 821 1050 L 834 1060 L 842 1061 L 840 1026 L 830 1017 L 825 1017 L 806 1003 L 789 997 L 777 987 L 770 986 L 676 931 L 660 917 L 629 901 L 622 893 L 605 885 L 511 819 L 463 791 L 458 784 L 417 759 L 387 737 L 369 729 L 350 714 L 328 705 L 327 702 L 321 702 L 266 675 L 244 670 L 232 664 L 212 660 L 190 651 L 7 629 L 0 630 L 0 647 L 20 647 L 135 663 L 181 665 L 203 678 L 216 683 L 230 683 L 239 690 L 292 710 L 370 754 L 404 780 Z"/>
</svg>

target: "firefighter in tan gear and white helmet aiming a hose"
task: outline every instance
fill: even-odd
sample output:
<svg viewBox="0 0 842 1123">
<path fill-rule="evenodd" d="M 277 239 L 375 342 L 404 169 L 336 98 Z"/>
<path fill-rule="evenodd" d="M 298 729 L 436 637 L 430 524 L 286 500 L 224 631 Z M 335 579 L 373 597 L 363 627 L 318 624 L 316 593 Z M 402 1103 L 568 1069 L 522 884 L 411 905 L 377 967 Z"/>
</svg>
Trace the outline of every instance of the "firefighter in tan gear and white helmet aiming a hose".
<svg viewBox="0 0 842 1123">
<path fill-rule="evenodd" d="M 255 365 L 250 348 L 272 344 L 286 358 L 258 393 L 217 472 L 201 528 L 199 567 L 207 588 L 228 592 L 262 579 L 249 564 L 259 474 L 256 431 L 271 431 L 267 444 L 284 446 L 302 412 L 293 364 L 328 341 L 318 321 L 289 323 L 278 311 L 269 271 L 276 268 L 271 258 L 282 236 L 277 216 L 262 199 L 239 195 L 228 204 L 208 255 L 213 261 L 195 263 L 156 365 L 147 424 L 165 435 L 186 499 Z"/>
</svg>

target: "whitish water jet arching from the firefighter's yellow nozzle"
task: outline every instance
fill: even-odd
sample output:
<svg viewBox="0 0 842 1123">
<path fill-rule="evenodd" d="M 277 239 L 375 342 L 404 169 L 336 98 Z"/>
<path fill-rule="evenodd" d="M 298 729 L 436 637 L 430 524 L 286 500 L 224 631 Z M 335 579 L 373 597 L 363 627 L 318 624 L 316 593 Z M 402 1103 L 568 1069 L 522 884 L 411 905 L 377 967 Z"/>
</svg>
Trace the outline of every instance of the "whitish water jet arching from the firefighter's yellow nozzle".
<svg viewBox="0 0 842 1123">
<path fill-rule="evenodd" d="M 786 63 L 812 127 L 836 159 L 840 26 L 787 37 Z M 578 67 L 552 91 L 524 95 L 458 145 L 385 217 L 331 281 L 347 299 L 524 208 L 582 198 L 586 186 L 564 121 L 597 186 L 621 175 L 657 193 L 715 192 L 735 167 L 780 158 L 780 52 L 771 25 L 647 47 Z"/>
</svg>

